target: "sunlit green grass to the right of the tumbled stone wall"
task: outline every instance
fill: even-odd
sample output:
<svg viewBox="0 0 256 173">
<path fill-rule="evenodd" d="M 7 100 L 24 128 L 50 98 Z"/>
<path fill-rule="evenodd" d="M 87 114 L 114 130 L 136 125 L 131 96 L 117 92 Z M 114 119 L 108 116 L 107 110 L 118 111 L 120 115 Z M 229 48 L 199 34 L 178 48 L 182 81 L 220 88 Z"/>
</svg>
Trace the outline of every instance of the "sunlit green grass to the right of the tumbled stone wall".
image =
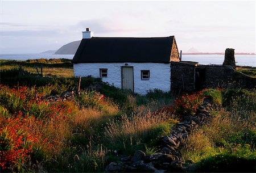
<svg viewBox="0 0 256 173">
<path fill-rule="evenodd" d="M 188 138 L 183 158 L 196 163 L 198 172 L 255 172 L 255 91 L 224 90 L 222 97 L 225 107 Z"/>
</svg>

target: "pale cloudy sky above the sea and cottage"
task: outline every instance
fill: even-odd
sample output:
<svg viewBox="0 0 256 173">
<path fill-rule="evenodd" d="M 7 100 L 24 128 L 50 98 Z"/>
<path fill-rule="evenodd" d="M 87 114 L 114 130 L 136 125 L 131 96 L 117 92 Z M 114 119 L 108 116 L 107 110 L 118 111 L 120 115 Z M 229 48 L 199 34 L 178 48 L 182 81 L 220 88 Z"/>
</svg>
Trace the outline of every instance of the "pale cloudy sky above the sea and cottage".
<svg viewBox="0 0 256 173">
<path fill-rule="evenodd" d="M 96 37 L 175 36 L 183 52 L 256 53 L 255 1 L 2 1 L 0 54 Z"/>
</svg>

